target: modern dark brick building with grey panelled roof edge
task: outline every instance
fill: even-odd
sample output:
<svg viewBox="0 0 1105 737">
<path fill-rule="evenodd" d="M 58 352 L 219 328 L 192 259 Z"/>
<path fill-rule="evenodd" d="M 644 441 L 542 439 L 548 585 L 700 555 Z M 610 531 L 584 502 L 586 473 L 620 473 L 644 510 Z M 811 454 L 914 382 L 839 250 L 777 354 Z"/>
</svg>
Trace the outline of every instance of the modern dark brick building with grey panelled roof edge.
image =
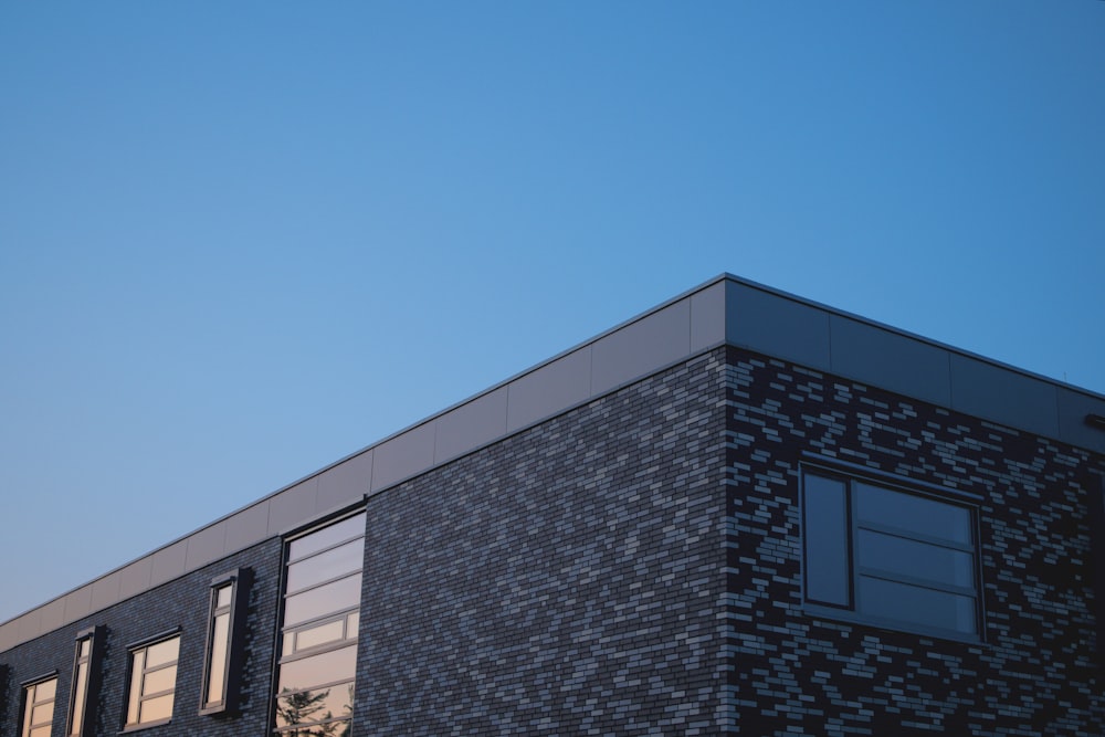
<svg viewBox="0 0 1105 737">
<path fill-rule="evenodd" d="M 1103 480 L 1105 397 L 724 275 L 0 625 L 0 734 L 1102 735 Z"/>
</svg>

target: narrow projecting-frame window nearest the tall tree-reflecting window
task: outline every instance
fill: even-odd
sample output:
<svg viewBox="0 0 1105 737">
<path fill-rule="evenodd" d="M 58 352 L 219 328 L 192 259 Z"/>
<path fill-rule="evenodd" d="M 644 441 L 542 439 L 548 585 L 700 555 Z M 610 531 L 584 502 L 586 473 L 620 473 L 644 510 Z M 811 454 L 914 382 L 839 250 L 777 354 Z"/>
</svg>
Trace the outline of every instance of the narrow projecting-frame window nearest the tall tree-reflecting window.
<svg viewBox="0 0 1105 737">
<path fill-rule="evenodd" d="M 211 581 L 211 608 L 208 617 L 203 695 L 200 714 L 233 708 L 241 660 L 249 589 L 249 571 L 239 569 Z"/>
</svg>

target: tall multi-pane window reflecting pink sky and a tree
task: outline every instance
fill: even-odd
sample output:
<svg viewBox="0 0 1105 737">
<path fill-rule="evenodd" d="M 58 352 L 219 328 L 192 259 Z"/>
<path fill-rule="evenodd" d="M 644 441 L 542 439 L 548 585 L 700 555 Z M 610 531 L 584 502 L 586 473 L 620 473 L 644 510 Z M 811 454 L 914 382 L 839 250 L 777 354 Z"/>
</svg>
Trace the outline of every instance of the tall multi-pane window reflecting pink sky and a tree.
<svg viewBox="0 0 1105 737">
<path fill-rule="evenodd" d="M 348 735 L 357 671 L 365 513 L 287 546 L 278 735 Z"/>
</svg>

